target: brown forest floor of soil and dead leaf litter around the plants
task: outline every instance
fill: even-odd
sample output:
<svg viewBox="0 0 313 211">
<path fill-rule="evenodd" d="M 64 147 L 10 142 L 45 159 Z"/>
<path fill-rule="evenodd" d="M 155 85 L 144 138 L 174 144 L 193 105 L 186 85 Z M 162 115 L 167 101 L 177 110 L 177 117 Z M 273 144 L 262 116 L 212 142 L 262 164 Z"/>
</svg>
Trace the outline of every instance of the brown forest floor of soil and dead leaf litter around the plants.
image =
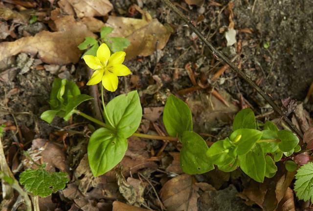
<svg viewBox="0 0 313 211">
<path fill-rule="evenodd" d="M 39 199 L 41 210 L 310 208 L 310 203 L 297 200 L 293 194 L 293 175 L 286 173 L 282 164 L 278 164 L 276 176 L 262 184 L 249 179 L 240 169 L 231 173 L 214 169 L 188 175 L 180 169 L 181 145 L 176 142 L 132 137 L 121 162 L 123 169 L 116 168 L 94 178 L 87 160 L 90 123 L 74 115 L 68 122 L 55 118 L 49 125 L 40 115 L 49 109 L 54 78 L 74 81 L 82 93 L 91 95 L 86 85 L 88 69 L 80 58 L 83 52 L 75 46 L 87 36 L 99 36 L 99 24 L 101 27 L 111 16 L 141 19 L 150 14 L 170 34 L 154 37 L 155 45 L 145 49 L 148 53 L 140 52 L 140 43 L 136 49 L 128 49 L 134 52 L 133 58 L 125 62 L 132 74 L 120 79 L 116 92 L 106 92 L 109 102 L 121 93 L 138 90 L 144 113 L 140 132 L 165 133 L 162 110 L 171 93 L 190 106 L 194 130 L 208 144 L 229 135 L 233 117 L 242 108 L 252 108 L 260 122 L 279 122 L 281 117 L 252 87 L 214 57 L 162 1 L 110 0 L 112 8 L 106 12 L 93 7 L 92 1 L 78 0 L 82 7 L 70 2 L 0 2 L 0 125 L 5 125 L 2 144 L 7 163 L 19 178 L 27 168 L 22 151 L 28 150 L 37 153 L 39 161 L 48 164 L 48 170 L 65 171 L 70 178 L 66 189 Z M 308 95 L 313 83 L 312 0 L 180 0 L 175 5 L 278 105 L 289 97 L 297 100 L 296 111 L 290 118 L 302 132 L 312 126 L 313 99 Z M 87 8 L 85 13 L 82 8 Z M 69 16 L 75 20 L 62 21 Z M 34 17 L 38 20 L 30 24 Z M 154 35 L 153 30 L 140 32 L 142 40 Z M 55 33 L 60 37 L 55 37 Z M 93 114 L 91 103 L 79 108 Z M 9 210 L 14 201 L 3 203 L 3 200 L 3 210 Z"/>
</svg>

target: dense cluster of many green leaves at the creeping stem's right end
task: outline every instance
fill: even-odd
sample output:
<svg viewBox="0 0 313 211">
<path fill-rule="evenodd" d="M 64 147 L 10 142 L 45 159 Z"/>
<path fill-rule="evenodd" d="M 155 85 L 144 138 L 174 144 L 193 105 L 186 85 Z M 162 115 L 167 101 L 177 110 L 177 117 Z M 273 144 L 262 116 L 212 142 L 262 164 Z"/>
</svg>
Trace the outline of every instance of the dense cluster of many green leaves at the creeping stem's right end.
<svg viewBox="0 0 313 211">
<path fill-rule="evenodd" d="M 206 152 L 208 161 L 225 172 L 240 167 L 249 177 L 263 182 L 275 175 L 275 162 L 283 154 L 290 156 L 299 139 L 288 130 L 278 130 L 267 121 L 263 130 L 257 129 L 254 113 L 250 108 L 237 113 L 233 132 L 224 140 L 215 142 Z"/>
</svg>

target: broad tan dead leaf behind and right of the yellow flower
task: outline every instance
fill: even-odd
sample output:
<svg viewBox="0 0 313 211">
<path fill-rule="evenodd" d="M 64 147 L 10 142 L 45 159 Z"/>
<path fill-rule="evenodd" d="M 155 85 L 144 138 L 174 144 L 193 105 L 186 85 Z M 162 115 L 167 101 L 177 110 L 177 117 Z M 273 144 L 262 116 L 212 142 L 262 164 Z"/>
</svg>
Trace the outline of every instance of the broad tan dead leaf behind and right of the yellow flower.
<svg viewBox="0 0 313 211">
<path fill-rule="evenodd" d="M 114 29 L 110 37 L 124 37 L 131 42 L 125 50 L 127 59 L 149 56 L 156 49 L 163 49 L 171 34 L 157 19 L 146 21 L 110 16 L 106 25 Z"/>
</svg>

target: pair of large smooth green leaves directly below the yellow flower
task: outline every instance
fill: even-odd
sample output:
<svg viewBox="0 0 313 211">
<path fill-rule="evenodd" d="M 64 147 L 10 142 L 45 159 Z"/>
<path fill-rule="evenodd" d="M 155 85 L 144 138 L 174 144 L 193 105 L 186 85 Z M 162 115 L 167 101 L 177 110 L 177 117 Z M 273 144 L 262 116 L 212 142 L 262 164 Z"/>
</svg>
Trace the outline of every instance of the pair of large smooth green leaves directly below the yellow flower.
<svg viewBox="0 0 313 211">
<path fill-rule="evenodd" d="M 88 144 L 89 166 L 94 176 L 108 172 L 123 159 L 128 146 L 127 138 L 133 135 L 141 122 L 142 108 L 137 91 L 113 98 L 106 111 L 106 124 L 112 123 L 112 129 L 97 129 Z"/>
</svg>

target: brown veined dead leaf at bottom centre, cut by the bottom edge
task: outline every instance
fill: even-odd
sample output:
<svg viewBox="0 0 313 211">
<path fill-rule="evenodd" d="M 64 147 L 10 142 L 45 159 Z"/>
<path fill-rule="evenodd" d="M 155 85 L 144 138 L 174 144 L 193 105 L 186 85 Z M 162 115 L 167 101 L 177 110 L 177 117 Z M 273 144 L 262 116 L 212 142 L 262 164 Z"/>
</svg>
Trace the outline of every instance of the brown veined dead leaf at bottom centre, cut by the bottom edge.
<svg viewBox="0 0 313 211">
<path fill-rule="evenodd" d="M 160 198 L 168 211 L 198 211 L 198 190 L 214 190 L 207 183 L 196 183 L 193 176 L 182 174 L 167 181 Z"/>
</svg>

